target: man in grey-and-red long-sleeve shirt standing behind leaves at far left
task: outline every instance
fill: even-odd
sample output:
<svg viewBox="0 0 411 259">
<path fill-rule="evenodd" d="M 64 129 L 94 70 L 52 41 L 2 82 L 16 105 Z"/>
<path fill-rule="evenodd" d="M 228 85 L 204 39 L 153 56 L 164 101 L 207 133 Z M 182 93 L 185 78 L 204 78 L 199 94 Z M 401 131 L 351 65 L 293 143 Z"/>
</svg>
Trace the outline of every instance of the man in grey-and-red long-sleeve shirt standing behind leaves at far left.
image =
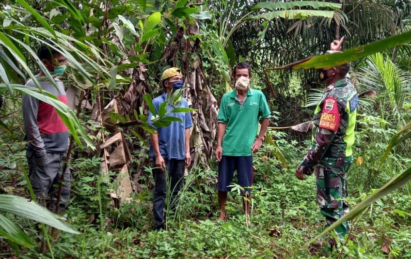
<svg viewBox="0 0 411 259">
<path fill-rule="evenodd" d="M 66 62 L 65 57 L 55 51 L 53 46 L 42 44 L 38 56 L 53 76 L 62 76 Z M 67 104 L 63 82 L 55 79 L 57 88 L 45 77 L 43 72 L 36 76 L 41 88 L 54 94 L 61 102 Z M 27 87 L 36 87 L 32 80 Z M 63 171 L 63 163 L 68 149 L 68 130 L 57 110 L 38 99 L 24 94 L 22 97 L 23 120 L 26 131 L 29 162 L 29 178 L 38 202 L 55 211 L 57 190 Z M 70 170 L 64 172 L 64 183 L 61 193 L 59 213 L 62 213 L 70 198 Z"/>
</svg>

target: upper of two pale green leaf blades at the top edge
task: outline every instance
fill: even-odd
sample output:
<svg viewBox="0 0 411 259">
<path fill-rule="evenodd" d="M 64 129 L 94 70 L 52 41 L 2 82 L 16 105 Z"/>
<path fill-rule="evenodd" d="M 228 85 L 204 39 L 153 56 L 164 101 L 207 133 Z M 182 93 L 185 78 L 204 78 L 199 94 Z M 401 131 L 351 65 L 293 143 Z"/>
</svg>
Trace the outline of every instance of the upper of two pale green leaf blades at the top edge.
<svg viewBox="0 0 411 259">
<path fill-rule="evenodd" d="M 331 8 L 337 10 L 341 8 L 342 4 L 321 1 L 261 2 L 256 4 L 252 10 L 269 9 L 275 11 L 277 9 L 290 9 L 297 6 L 311 6 L 316 9 Z"/>
</svg>

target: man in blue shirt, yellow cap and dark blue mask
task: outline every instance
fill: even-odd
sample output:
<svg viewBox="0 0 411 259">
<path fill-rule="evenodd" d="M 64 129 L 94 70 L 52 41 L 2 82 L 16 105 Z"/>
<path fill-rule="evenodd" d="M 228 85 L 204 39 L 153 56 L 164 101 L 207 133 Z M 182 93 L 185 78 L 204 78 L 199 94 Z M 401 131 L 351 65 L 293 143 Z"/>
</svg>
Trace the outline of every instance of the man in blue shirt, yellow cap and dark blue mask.
<svg viewBox="0 0 411 259">
<path fill-rule="evenodd" d="M 183 88 L 183 75 L 180 69 L 175 67 L 166 69 L 162 75 L 162 85 L 163 93 L 153 100 L 157 113 L 160 104 L 166 102 L 167 94 Z M 188 108 L 187 100 L 182 98 L 176 107 L 168 103 L 167 112 L 179 107 Z M 190 128 L 192 127 L 192 120 L 190 112 L 169 113 L 167 116 L 177 117 L 182 122 L 171 122 L 167 127 L 156 128 L 151 123 L 151 120 L 154 119 L 153 114 L 151 112 L 148 113 L 148 123 L 157 131 L 157 133 L 150 135 L 149 152 L 153 160 L 153 213 L 156 221 L 156 230 L 165 229 L 166 173 L 168 173 L 169 180 L 171 181 L 170 209 L 174 210 L 178 203 L 176 196 L 183 186 L 184 168 L 188 168 L 191 163 Z"/>
</svg>

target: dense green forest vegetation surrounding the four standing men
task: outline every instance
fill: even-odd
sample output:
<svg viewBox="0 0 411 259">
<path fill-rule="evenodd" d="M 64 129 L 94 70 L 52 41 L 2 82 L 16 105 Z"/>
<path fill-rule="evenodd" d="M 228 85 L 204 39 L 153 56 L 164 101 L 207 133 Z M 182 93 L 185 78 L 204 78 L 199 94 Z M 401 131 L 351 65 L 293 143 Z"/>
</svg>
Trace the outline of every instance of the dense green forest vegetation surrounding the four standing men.
<svg viewBox="0 0 411 259">
<path fill-rule="evenodd" d="M 411 257 L 406 183 L 411 1 L 5 0 L 0 5 L 0 257 Z M 362 98 L 348 203 L 355 207 L 399 174 L 402 182 L 394 187 L 405 184 L 357 213 L 338 249 L 310 251 L 324 222 L 315 178 L 300 182 L 294 171 L 311 137 L 274 127 L 309 121 L 323 90 L 315 69 L 271 69 L 321 55 L 343 36 L 343 49 L 350 49 L 394 35 L 408 36 L 401 46 L 379 45 L 366 57 L 351 57 L 350 78 Z M 27 202 L 4 196 L 31 197 L 20 100 L 27 93 L 58 106 L 52 97 L 22 86 L 45 69 L 36 49 L 50 42 L 69 62 L 61 79 L 70 109 L 59 111 L 72 134 L 72 198 L 60 219 L 72 231 L 52 223 L 56 218 L 44 211 L 25 209 Z M 253 156 L 251 227 L 238 188 L 229 193 L 229 220 L 217 220 L 216 117 L 239 61 L 252 65 L 251 85 L 264 92 L 272 111 L 265 143 Z M 155 232 L 151 130 L 145 121 L 152 98 L 162 91 L 161 73 L 170 66 L 182 69 L 187 89 L 182 95 L 195 109 L 193 163 L 167 231 Z M 163 126 L 164 115 L 158 120 Z M 382 160 L 387 148 L 391 152 Z"/>
</svg>

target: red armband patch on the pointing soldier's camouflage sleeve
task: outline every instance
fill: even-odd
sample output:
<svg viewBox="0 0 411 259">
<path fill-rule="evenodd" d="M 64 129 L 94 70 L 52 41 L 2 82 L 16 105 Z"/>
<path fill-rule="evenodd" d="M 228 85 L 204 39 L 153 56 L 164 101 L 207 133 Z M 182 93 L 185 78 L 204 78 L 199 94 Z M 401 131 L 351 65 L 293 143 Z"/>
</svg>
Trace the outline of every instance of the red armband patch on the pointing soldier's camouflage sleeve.
<svg viewBox="0 0 411 259">
<path fill-rule="evenodd" d="M 341 116 L 338 111 L 337 99 L 335 99 L 335 97 L 325 98 L 324 105 L 322 107 L 319 127 L 336 132 L 340 125 L 340 121 Z"/>
</svg>

